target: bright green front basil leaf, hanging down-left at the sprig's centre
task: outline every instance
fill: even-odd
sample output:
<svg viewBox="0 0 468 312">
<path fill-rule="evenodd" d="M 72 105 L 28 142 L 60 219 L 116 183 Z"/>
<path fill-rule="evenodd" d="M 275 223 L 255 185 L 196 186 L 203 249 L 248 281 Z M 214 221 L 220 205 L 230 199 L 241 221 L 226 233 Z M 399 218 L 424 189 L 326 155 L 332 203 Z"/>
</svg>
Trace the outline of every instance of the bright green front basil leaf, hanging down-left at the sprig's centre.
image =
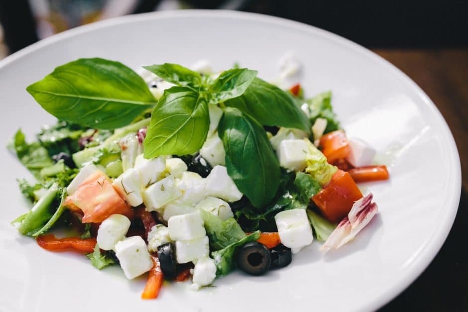
<svg viewBox="0 0 468 312">
<path fill-rule="evenodd" d="M 144 157 L 192 154 L 202 147 L 209 127 L 208 103 L 198 92 L 187 87 L 165 90 L 152 112 Z"/>
</svg>

